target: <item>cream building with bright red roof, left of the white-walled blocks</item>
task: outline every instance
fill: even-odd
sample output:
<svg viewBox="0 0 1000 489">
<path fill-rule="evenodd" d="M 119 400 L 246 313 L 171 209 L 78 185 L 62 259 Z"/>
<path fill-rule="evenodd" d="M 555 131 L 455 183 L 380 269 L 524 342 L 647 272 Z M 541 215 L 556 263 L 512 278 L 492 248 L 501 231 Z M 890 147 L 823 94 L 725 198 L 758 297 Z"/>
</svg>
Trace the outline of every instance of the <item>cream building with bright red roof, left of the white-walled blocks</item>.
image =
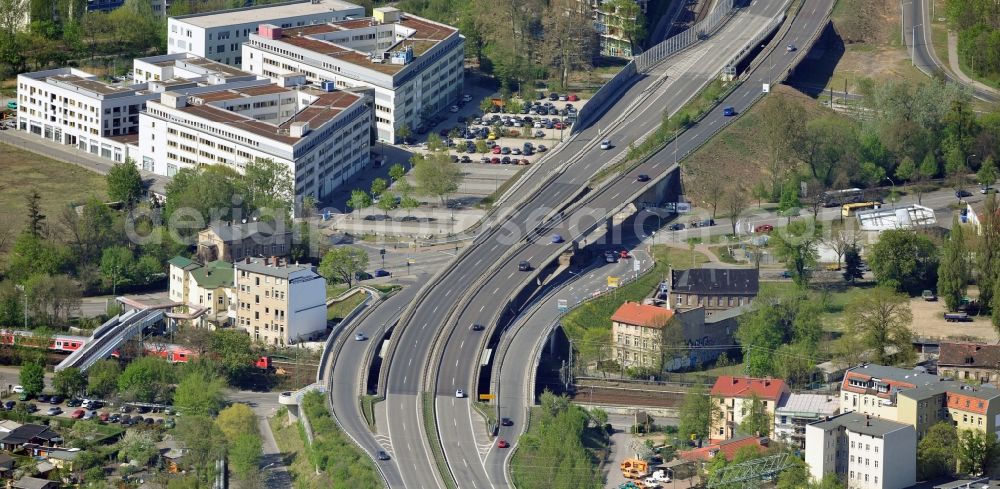
<svg viewBox="0 0 1000 489">
<path fill-rule="evenodd" d="M 764 404 L 771 419 L 775 410 L 791 394 L 781 379 L 756 379 L 752 377 L 720 376 L 709 395 L 719 406 L 721 416 L 712 419 L 710 440 L 728 440 L 739 429 L 743 418 L 750 412 L 750 403 L 756 397 Z M 770 433 L 761 433 L 767 436 Z"/>
</svg>

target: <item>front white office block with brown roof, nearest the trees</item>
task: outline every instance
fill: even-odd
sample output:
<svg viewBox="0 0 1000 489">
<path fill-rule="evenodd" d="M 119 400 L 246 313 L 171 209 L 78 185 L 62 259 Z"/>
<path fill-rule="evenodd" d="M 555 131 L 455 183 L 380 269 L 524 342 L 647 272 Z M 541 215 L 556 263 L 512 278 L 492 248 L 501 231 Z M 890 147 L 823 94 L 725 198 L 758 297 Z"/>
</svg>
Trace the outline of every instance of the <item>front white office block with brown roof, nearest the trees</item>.
<svg viewBox="0 0 1000 489">
<path fill-rule="evenodd" d="M 371 110 L 362 97 L 282 85 L 164 92 L 140 115 L 142 168 L 173 176 L 182 168 L 270 159 L 294 178 L 295 199 L 322 200 L 369 161 Z"/>
</svg>

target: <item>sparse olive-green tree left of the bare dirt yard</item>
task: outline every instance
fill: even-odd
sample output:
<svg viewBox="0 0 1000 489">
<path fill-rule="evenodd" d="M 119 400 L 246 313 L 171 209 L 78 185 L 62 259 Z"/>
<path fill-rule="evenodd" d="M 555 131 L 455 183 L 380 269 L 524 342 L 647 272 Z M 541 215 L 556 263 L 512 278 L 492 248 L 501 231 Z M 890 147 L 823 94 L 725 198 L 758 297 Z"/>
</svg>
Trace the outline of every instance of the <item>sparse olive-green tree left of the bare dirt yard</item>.
<svg viewBox="0 0 1000 489">
<path fill-rule="evenodd" d="M 847 306 L 848 334 L 870 349 L 874 361 L 891 365 L 913 355 L 913 332 L 909 299 L 887 287 L 876 287 L 856 296 Z"/>
</svg>

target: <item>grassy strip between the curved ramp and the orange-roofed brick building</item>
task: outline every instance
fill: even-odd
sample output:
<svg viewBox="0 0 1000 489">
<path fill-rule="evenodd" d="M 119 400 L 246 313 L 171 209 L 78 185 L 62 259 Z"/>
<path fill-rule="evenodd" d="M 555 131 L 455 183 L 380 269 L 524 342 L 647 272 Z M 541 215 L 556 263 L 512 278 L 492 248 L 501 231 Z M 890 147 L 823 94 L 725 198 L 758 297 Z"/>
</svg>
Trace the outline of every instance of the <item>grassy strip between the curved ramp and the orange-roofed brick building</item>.
<svg viewBox="0 0 1000 489">
<path fill-rule="evenodd" d="M 638 280 L 619 287 L 610 294 L 584 302 L 562 318 L 563 330 L 569 338 L 584 344 L 603 344 L 611 334 L 611 315 L 626 301 L 638 302 L 653 292 L 671 266 L 691 268 L 708 263 L 708 257 L 697 251 L 670 248 L 664 245 L 652 247 L 656 265 Z M 594 337 L 595 335 L 599 337 Z"/>
</svg>

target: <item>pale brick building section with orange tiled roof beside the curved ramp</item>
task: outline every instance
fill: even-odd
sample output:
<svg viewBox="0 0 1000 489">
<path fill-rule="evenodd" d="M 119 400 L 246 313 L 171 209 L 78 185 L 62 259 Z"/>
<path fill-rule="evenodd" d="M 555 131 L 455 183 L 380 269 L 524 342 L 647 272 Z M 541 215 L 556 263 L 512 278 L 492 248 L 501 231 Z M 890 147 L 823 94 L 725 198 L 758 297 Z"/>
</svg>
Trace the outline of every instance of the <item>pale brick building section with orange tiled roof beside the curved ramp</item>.
<svg viewBox="0 0 1000 489">
<path fill-rule="evenodd" d="M 611 356 L 625 368 L 653 368 L 660 363 L 663 327 L 674 311 L 626 302 L 611 316 Z"/>
</svg>

